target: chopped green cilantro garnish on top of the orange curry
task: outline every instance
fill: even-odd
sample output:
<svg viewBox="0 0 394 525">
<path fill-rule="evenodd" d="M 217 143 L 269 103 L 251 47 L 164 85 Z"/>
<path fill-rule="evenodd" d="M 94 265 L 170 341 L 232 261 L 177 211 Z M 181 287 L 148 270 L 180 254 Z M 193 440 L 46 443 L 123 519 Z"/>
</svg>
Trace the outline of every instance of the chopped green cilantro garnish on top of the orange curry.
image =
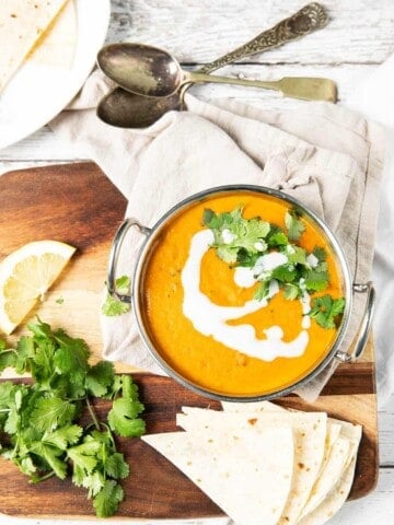
<svg viewBox="0 0 394 525">
<path fill-rule="evenodd" d="M 206 209 L 204 225 L 213 233 L 212 247 L 218 257 L 231 266 L 252 268 L 259 283 L 255 291 L 258 301 L 268 299 L 269 285 L 275 280 L 286 299 L 300 299 L 308 292 L 323 292 L 329 284 L 329 273 L 324 248 L 316 246 L 309 254 L 296 244 L 305 225 L 300 211 L 289 209 L 285 214 L 286 230 L 256 217 L 242 217 L 243 207 L 237 206 L 231 212 L 216 213 Z M 259 259 L 270 252 L 286 255 L 286 262 L 270 271 L 259 266 Z M 311 257 L 314 261 L 311 265 Z M 329 303 L 329 304 L 328 304 Z M 310 316 L 323 328 L 334 328 L 335 320 L 344 312 L 345 299 L 331 295 L 314 298 Z"/>
</svg>

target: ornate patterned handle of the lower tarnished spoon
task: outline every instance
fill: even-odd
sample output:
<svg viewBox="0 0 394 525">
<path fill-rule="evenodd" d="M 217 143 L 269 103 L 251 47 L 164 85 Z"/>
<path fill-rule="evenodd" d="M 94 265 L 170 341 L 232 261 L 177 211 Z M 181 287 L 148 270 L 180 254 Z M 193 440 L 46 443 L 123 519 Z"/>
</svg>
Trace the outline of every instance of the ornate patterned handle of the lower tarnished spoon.
<svg viewBox="0 0 394 525">
<path fill-rule="evenodd" d="M 264 31 L 233 51 L 223 55 L 212 62 L 206 63 L 197 71 L 200 73 L 210 73 L 241 58 L 281 46 L 287 42 L 308 35 L 313 31 L 324 27 L 327 22 L 328 14 L 323 5 L 316 2 L 309 3 L 292 16 L 282 20 L 270 30 Z"/>
</svg>

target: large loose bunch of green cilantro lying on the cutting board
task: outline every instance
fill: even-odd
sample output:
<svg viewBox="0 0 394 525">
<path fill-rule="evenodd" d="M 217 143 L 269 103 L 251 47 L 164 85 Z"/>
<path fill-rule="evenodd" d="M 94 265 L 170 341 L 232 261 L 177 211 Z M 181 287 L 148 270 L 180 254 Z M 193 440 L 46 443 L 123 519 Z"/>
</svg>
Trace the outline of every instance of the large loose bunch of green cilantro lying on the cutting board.
<svg viewBox="0 0 394 525">
<path fill-rule="evenodd" d="M 51 476 L 88 489 L 96 515 L 113 515 L 124 499 L 118 482 L 129 474 L 124 455 L 116 450 L 114 435 L 140 436 L 143 405 L 129 375 L 116 375 L 113 364 L 89 363 L 82 339 L 69 337 L 49 325 L 27 325 L 16 349 L 0 340 L 0 372 L 12 366 L 18 374 L 32 375 L 24 384 L 0 383 L 0 455 L 12 460 L 32 483 Z M 113 401 L 107 421 L 99 421 L 92 399 Z M 83 427 L 88 410 L 91 423 Z"/>
</svg>

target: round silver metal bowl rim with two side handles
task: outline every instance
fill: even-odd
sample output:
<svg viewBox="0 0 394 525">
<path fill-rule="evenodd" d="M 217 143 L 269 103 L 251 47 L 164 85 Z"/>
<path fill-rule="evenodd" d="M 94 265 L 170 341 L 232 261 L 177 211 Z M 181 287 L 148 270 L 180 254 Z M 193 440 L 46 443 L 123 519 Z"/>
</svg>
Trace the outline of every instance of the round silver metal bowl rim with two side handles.
<svg viewBox="0 0 394 525">
<path fill-rule="evenodd" d="M 278 389 L 274 393 L 264 394 L 264 395 L 253 395 L 253 396 L 239 396 L 239 395 L 229 396 L 229 395 L 218 394 L 217 392 L 211 392 L 189 381 L 188 378 L 185 378 L 182 374 L 179 374 L 177 370 L 171 366 L 160 353 L 159 349 L 154 343 L 154 340 L 152 340 L 150 336 L 149 327 L 147 327 L 147 322 L 141 311 L 141 302 L 143 296 L 143 275 L 146 269 L 146 262 L 149 259 L 152 247 L 154 247 L 154 245 L 158 242 L 160 242 L 159 237 L 161 235 L 161 232 L 169 224 L 169 222 L 171 222 L 175 217 L 178 217 L 179 214 L 182 214 L 187 208 L 195 205 L 196 202 L 201 202 L 206 199 L 209 199 L 211 197 L 218 197 L 223 194 L 229 194 L 229 192 L 234 194 L 234 192 L 241 192 L 241 191 L 266 195 L 266 196 L 270 196 L 271 198 L 279 199 L 286 205 L 294 207 L 300 212 L 301 215 L 308 218 L 314 224 L 314 226 L 325 237 L 328 246 L 331 247 L 332 254 L 336 259 L 336 264 L 339 268 L 340 277 L 343 280 L 344 295 L 346 299 L 345 312 L 341 318 L 340 326 L 337 329 L 336 338 L 332 343 L 332 348 L 326 353 L 326 355 L 322 359 L 322 361 L 317 364 L 317 366 L 313 369 L 311 372 L 305 373 L 305 375 L 302 378 L 300 378 L 299 381 L 297 381 L 296 383 L 293 383 L 288 387 Z M 125 238 L 125 235 L 127 234 L 128 230 L 132 226 L 137 228 L 139 232 L 146 236 L 146 238 L 139 250 L 136 266 L 134 269 L 131 294 L 126 295 L 126 294 L 119 294 L 116 291 L 116 285 L 115 285 L 116 266 L 117 266 L 118 255 L 119 255 L 119 250 L 120 250 L 123 241 Z M 344 252 L 338 241 L 336 240 L 335 235 L 322 219 L 320 219 L 313 211 L 305 208 L 305 206 L 303 206 L 300 201 L 298 201 L 292 197 L 289 197 L 288 195 L 281 191 L 266 188 L 263 186 L 253 186 L 253 185 L 220 186 L 220 187 L 207 189 L 205 191 L 195 194 L 188 197 L 187 199 L 178 202 L 171 210 L 169 210 L 154 224 L 153 228 L 143 226 L 136 219 L 126 219 L 123 222 L 123 224 L 119 226 L 118 231 L 116 232 L 116 235 L 114 237 L 114 242 L 112 245 L 109 261 L 108 261 L 107 289 L 109 294 L 116 298 L 117 300 L 126 303 L 131 303 L 141 339 L 146 343 L 147 349 L 150 351 L 150 353 L 155 359 L 155 361 L 170 376 L 178 381 L 182 385 L 186 386 L 187 388 L 190 388 L 192 390 L 195 390 L 198 394 L 201 394 L 204 396 L 208 396 L 219 400 L 234 400 L 234 401 L 235 400 L 236 401 L 240 401 L 240 400 L 256 401 L 256 400 L 264 400 L 264 399 L 268 400 L 279 396 L 285 396 L 287 394 L 290 394 L 294 389 L 305 385 L 308 382 L 310 382 L 320 372 L 322 372 L 334 359 L 338 359 L 341 362 L 352 362 L 357 360 L 361 355 L 367 345 L 368 335 L 371 327 L 373 304 L 374 304 L 374 290 L 371 283 L 368 282 L 366 284 L 360 284 L 360 283 L 352 282 L 349 267 L 347 265 Z M 368 295 L 367 295 L 366 312 L 360 325 L 358 341 L 352 350 L 352 353 L 350 354 L 347 352 L 347 349 L 341 350 L 340 345 L 344 340 L 344 336 L 349 324 L 349 317 L 352 308 L 352 296 L 355 292 L 367 293 Z"/>
</svg>

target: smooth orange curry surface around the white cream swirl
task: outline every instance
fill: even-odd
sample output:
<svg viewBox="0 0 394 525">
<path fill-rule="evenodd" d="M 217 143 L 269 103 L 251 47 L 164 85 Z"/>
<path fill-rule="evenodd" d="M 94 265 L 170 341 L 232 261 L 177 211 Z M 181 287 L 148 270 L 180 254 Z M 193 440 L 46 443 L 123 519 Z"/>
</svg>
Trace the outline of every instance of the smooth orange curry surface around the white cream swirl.
<svg viewBox="0 0 394 525">
<path fill-rule="evenodd" d="M 285 213 L 289 205 L 263 194 L 221 194 L 194 203 L 163 228 L 147 261 L 140 301 L 147 331 L 173 370 L 189 382 L 217 394 L 256 396 L 290 386 L 315 369 L 329 351 L 336 329 L 322 328 L 311 319 L 309 343 L 301 357 L 277 358 L 267 362 L 204 336 L 185 317 L 181 273 L 189 255 L 193 235 L 205 229 L 201 222 L 204 210 L 210 208 L 219 213 L 231 211 L 240 203 L 244 206 L 244 218 L 258 215 L 285 229 Z M 333 298 L 341 296 L 339 270 L 324 235 L 306 218 L 301 220 L 305 231 L 297 244 L 308 252 L 315 246 L 324 247 L 327 252 L 329 285 L 321 295 L 329 293 Z M 253 298 L 254 288 L 239 288 L 233 272 L 234 269 L 220 260 L 215 249 L 209 249 L 201 264 L 201 292 L 218 305 L 242 306 Z M 286 341 L 300 332 L 301 320 L 300 301 L 288 301 L 279 292 L 266 307 L 230 323 L 253 325 L 256 337 L 260 339 L 265 338 L 265 328 L 278 325 L 285 332 Z"/>
</svg>

